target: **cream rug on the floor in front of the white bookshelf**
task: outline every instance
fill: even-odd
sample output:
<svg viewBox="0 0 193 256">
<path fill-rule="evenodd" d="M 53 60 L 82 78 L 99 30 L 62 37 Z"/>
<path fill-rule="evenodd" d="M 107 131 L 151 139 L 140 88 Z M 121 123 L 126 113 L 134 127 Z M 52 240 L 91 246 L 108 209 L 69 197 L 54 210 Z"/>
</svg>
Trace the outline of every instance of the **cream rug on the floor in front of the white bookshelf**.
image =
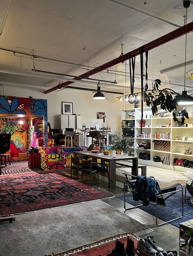
<svg viewBox="0 0 193 256">
<path fill-rule="evenodd" d="M 131 173 L 131 168 L 119 168 L 119 170 Z M 156 180 L 162 181 L 164 183 L 169 183 L 177 180 L 188 180 L 187 177 L 185 177 L 178 171 L 157 168 L 154 166 L 147 166 L 147 177 L 149 176 L 153 176 Z"/>
</svg>

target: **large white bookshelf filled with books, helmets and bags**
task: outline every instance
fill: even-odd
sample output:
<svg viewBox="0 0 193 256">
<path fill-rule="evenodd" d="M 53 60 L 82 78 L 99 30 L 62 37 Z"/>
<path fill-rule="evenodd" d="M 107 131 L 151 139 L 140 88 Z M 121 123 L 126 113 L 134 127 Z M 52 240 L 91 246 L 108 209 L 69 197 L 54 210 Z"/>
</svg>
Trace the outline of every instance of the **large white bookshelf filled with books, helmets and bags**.
<svg viewBox="0 0 193 256">
<path fill-rule="evenodd" d="M 193 106 L 187 106 L 187 111 L 189 113 L 189 120 L 185 119 L 185 123 L 188 124 L 187 127 L 177 127 L 177 123 L 173 120 L 173 113 L 165 113 L 165 117 L 159 117 L 153 116 L 152 111 L 150 107 L 144 107 L 143 108 L 143 120 L 145 121 L 145 127 L 142 127 L 142 131 L 144 133 L 151 133 L 151 138 L 137 138 L 137 133 L 140 133 L 141 127 L 140 127 L 140 121 L 141 121 L 141 108 L 133 108 L 133 109 L 125 109 L 122 110 L 121 117 L 122 121 L 125 121 L 125 123 L 132 123 L 133 120 L 135 120 L 135 137 L 134 139 L 134 151 L 135 156 L 139 156 L 140 152 L 147 152 L 151 156 L 151 160 L 142 160 L 139 159 L 140 164 L 148 164 L 151 166 L 161 167 L 164 169 L 170 169 L 170 170 L 177 170 L 177 171 L 183 171 L 185 170 L 182 166 L 173 166 L 174 158 L 178 159 L 189 159 L 193 160 L 193 116 L 191 116 Z M 178 110 L 182 110 L 182 108 L 178 107 Z M 125 118 L 126 112 L 132 112 L 133 116 L 135 118 Z M 158 112 L 163 112 L 163 110 L 158 106 Z M 177 111 L 178 112 L 178 111 Z M 146 118 L 147 115 L 147 118 Z M 150 117 L 151 115 L 151 117 Z M 181 117 L 177 117 L 179 120 L 181 120 Z M 171 126 L 169 127 L 169 119 L 171 120 Z M 159 125 L 159 126 L 157 126 Z M 161 125 L 167 125 L 167 127 L 160 127 Z M 149 127 L 148 127 L 149 126 Z M 171 139 L 154 139 L 153 138 L 153 132 L 154 133 L 171 133 Z M 176 139 L 176 135 L 179 135 L 178 140 Z M 188 141 L 184 141 L 183 137 L 188 136 L 190 138 Z M 175 140 L 174 140 L 175 138 Z M 156 140 L 163 140 L 163 141 L 170 141 L 170 152 L 168 151 L 161 151 L 161 150 L 154 150 L 154 141 Z M 147 141 L 151 143 L 151 149 L 139 149 L 137 148 L 138 143 L 142 143 L 142 141 Z M 187 143 L 189 142 L 189 143 Z M 184 150 L 190 148 L 192 154 L 191 155 L 184 155 Z M 153 158 L 155 155 L 158 155 L 161 160 L 163 160 L 164 156 L 170 156 L 170 164 L 169 165 L 163 165 L 161 162 L 156 163 L 153 161 Z"/>
</svg>

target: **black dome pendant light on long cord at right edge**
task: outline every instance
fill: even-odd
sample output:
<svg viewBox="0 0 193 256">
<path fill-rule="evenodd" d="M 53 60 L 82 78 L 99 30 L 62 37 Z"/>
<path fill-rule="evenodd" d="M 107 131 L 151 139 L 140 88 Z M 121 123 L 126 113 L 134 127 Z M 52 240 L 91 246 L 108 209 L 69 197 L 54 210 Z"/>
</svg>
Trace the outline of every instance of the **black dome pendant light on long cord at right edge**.
<svg viewBox="0 0 193 256">
<path fill-rule="evenodd" d="M 183 0 L 184 8 L 186 8 L 186 41 L 187 41 L 187 8 L 190 6 L 190 0 Z M 187 95 L 187 91 L 185 89 L 185 82 L 186 82 L 186 41 L 185 41 L 185 70 L 184 70 L 184 91 L 182 92 L 181 96 L 178 100 L 178 105 L 192 105 L 193 104 L 193 97 Z"/>
</svg>

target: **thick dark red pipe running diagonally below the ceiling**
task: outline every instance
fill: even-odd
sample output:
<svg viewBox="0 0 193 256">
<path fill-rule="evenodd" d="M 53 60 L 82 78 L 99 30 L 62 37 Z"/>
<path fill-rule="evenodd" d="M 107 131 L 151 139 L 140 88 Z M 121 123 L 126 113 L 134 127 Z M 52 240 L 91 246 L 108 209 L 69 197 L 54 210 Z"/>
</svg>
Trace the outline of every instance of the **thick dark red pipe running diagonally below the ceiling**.
<svg viewBox="0 0 193 256">
<path fill-rule="evenodd" d="M 193 22 L 187 24 L 187 33 L 191 32 L 193 30 Z M 153 40 L 152 42 L 148 43 L 148 44 L 145 44 L 143 45 L 143 52 L 146 52 L 146 51 L 149 51 L 149 50 L 152 50 L 162 44 L 165 44 L 165 43 L 168 43 L 169 41 L 171 40 L 174 40 L 180 36 L 183 36 L 186 34 L 186 26 L 183 26 L 183 27 L 180 27 L 164 36 L 161 36 L 160 38 L 158 39 L 155 39 Z M 140 49 L 141 47 L 131 51 L 131 57 L 135 57 L 137 55 L 140 54 Z M 108 69 L 109 67 L 112 67 L 112 66 L 115 66 L 119 63 L 123 63 L 125 60 L 128 60 L 129 59 L 129 53 L 126 53 L 126 54 L 123 54 L 123 55 L 120 55 L 118 58 L 114 59 L 114 60 L 111 60 L 99 67 L 96 67 L 95 69 L 92 69 L 88 72 L 85 72 L 84 74 L 81 74 L 80 76 L 82 77 L 87 77 L 88 76 L 92 76 L 100 71 L 103 71 L 105 69 Z M 81 80 L 81 78 L 73 78 L 74 80 Z M 50 93 L 50 92 L 53 92 L 53 91 L 56 91 L 58 89 L 61 89 L 67 85 L 70 85 L 71 83 L 74 83 L 74 82 L 70 82 L 70 81 L 67 81 L 65 83 L 61 83 L 53 88 L 50 88 L 49 90 L 46 90 L 44 93 L 47 94 L 47 93 Z"/>
</svg>

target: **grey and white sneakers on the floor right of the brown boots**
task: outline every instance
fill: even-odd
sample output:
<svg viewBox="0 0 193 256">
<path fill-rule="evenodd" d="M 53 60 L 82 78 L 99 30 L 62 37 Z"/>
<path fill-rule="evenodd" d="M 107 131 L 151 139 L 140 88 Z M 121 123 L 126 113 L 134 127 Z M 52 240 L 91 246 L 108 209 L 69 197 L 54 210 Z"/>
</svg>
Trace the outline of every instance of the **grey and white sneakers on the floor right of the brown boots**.
<svg viewBox="0 0 193 256">
<path fill-rule="evenodd" d="M 140 238 L 137 242 L 137 249 L 148 256 L 177 256 L 177 251 L 165 252 L 154 240 L 154 236 Z"/>
</svg>

